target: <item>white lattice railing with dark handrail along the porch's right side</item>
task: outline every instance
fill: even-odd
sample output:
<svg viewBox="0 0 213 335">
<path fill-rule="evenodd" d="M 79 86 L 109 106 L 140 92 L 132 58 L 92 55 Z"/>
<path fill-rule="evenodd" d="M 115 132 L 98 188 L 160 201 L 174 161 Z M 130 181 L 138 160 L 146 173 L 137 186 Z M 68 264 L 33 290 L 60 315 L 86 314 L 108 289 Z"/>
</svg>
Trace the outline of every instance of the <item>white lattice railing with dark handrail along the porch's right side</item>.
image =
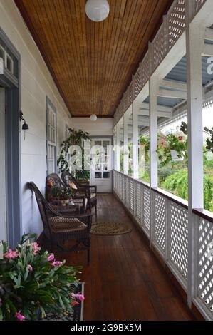
<svg viewBox="0 0 213 335">
<path fill-rule="evenodd" d="M 188 259 L 187 202 L 163 190 L 150 189 L 144 182 L 117 171 L 113 188 L 187 292 L 192 267 Z M 213 216 L 194 210 L 193 219 L 197 227 L 194 246 L 197 257 L 190 271 L 194 276 L 190 280 L 195 283 L 192 301 L 207 319 L 213 319 Z"/>
</svg>

